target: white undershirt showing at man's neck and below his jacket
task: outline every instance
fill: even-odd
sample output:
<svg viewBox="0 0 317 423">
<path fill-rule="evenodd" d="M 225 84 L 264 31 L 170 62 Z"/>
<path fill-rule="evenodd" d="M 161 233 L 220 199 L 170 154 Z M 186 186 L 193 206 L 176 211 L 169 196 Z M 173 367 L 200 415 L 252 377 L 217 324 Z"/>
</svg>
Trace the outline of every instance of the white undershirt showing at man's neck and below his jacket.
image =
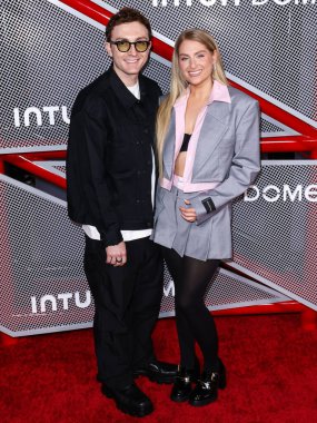
<svg viewBox="0 0 317 423">
<path fill-rule="evenodd" d="M 139 81 L 132 86 L 127 87 L 130 92 L 139 100 L 140 99 L 140 86 Z M 156 181 L 156 165 L 155 165 L 155 155 L 153 150 L 151 148 L 151 155 L 152 155 L 152 175 L 151 175 L 151 201 L 152 206 L 155 203 L 155 181 Z M 91 238 L 100 240 L 100 234 L 98 229 L 95 226 L 91 225 L 82 225 L 82 229 L 85 234 Z M 133 240 L 133 239 L 140 239 L 145 238 L 147 236 L 150 236 L 152 233 L 152 229 L 140 229 L 140 230 L 121 230 L 121 235 L 125 242 L 127 240 Z"/>
</svg>

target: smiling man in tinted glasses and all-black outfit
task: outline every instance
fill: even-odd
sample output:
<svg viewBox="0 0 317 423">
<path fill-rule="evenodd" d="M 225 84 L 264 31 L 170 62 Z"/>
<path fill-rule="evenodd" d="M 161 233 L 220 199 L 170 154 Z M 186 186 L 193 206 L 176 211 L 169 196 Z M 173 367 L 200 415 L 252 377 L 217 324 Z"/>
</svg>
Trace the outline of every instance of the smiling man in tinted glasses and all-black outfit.
<svg viewBox="0 0 317 423">
<path fill-rule="evenodd" d="M 112 66 L 80 91 L 72 108 L 68 210 L 86 233 L 101 391 L 123 412 L 143 416 L 152 403 L 133 377 L 171 383 L 177 371 L 156 360 L 151 342 L 162 294 L 162 260 L 149 239 L 161 91 L 140 75 L 151 46 L 151 28 L 140 12 L 121 9 L 106 37 Z"/>
</svg>

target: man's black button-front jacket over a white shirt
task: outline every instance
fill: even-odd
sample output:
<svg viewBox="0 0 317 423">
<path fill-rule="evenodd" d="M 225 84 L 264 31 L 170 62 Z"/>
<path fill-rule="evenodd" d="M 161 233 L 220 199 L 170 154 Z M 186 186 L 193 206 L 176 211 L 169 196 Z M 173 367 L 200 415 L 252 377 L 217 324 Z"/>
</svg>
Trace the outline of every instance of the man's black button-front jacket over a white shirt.
<svg viewBox="0 0 317 423">
<path fill-rule="evenodd" d="M 112 67 L 72 107 L 67 154 L 69 217 L 96 226 L 106 246 L 121 229 L 152 227 L 151 146 L 159 86 L 139 77 L 140 100 Z"/>
</svg>

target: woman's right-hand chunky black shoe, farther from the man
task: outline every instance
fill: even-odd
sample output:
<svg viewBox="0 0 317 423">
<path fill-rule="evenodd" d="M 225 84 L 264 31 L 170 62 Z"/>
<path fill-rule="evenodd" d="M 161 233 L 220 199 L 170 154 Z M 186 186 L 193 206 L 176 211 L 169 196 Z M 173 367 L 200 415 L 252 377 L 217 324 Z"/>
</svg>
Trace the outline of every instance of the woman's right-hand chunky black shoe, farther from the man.
<svg viewBox="0 0 317 423">
<path fill-rule="evenodd" d="M 219 360 L 219 372 L 202 372 L 189 395 L 189 404 L 201 406 L 212 403 L 218 397 L 218 388 L 224 390 L 226 383 L 226 368 Z"/>
</svg>

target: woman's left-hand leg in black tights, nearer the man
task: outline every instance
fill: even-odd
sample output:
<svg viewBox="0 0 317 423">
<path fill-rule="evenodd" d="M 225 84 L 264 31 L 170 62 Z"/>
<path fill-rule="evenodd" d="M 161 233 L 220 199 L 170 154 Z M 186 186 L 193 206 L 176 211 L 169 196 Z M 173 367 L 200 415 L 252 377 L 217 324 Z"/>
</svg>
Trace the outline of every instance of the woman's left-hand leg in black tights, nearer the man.
<svg viewBox="0 0 317 423">
<path fill-rule="evenodd" d="M 177 301 L 182 291 L 184 257 L 180 257 L 174 249 L 166 247 L 162 247 L 162 254 L 175 284 L 175 314 L 180 348 L 180 365 L 187 370 L 195 370 L 197 367 L 197 358 L 195 355 L 194 334 L 186 314 L 178 306 L 179 302 Z"/>
</svg>

